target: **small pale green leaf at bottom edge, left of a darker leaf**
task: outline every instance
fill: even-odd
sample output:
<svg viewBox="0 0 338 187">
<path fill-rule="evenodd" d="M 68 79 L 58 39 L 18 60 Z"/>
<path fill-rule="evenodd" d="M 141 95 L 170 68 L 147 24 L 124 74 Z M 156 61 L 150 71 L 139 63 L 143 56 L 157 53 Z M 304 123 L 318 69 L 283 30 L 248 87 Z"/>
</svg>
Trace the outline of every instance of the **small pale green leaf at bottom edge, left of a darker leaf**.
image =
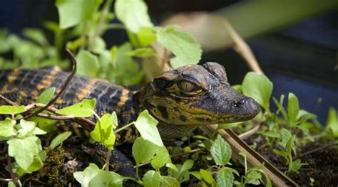
<svg viewBox="0 0 338 187">
<path fill-rule="evenodd" d="M 98 169 L 98 166 L 96 166 L 96 164 L 89 164 L 86 169 L 84 169 L 83 171 L 75 172 L 73 175 L 76 181 L 81 183 L 81 186 L 89 186 L 91 179 L 95 177 L 99 171 L 100 169 Z"/>
</svg>

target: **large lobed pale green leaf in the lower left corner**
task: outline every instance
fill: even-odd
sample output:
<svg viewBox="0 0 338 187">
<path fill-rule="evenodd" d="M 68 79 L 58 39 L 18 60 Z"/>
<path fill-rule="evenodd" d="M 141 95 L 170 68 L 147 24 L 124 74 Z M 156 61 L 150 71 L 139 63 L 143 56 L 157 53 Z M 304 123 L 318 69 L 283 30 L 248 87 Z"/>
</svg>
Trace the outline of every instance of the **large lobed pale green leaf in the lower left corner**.
<svg viewBox="0 0 338 187">
<path fill-rule="evenodd" d="M 19 166 L 28 170 L 34 161 L 34 156 L 42 150 L 41 141 L 38 137 L 26 137 L 24 139 L 9 139 L 9 156 L 14 157 Z"/>
</svg>

